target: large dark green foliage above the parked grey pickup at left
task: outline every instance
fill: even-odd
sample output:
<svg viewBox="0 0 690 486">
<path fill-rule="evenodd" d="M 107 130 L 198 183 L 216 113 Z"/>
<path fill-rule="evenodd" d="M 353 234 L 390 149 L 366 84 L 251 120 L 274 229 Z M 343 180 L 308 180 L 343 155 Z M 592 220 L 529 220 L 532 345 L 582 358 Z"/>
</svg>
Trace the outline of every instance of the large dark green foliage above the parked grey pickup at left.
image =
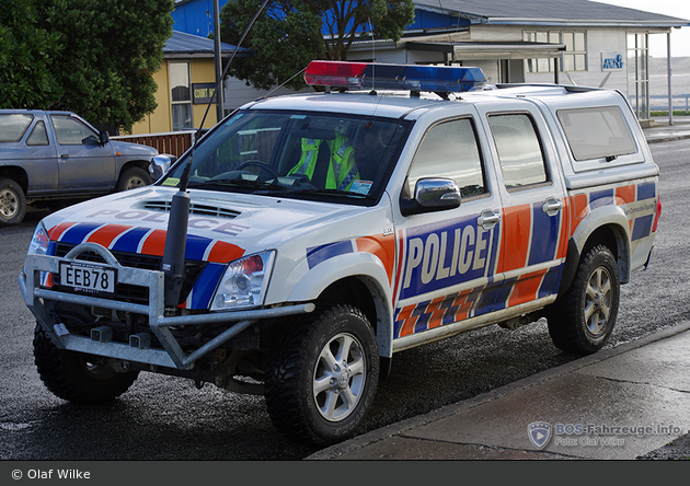
<svg viewBox="0 0 690 486">
<path fill-rule="evenodd" d="M 2 0 L 0 12 L 5 2 Z M 0 18 L 0 46 L 4 47 L 5 27 L 25 39 L 18 49 L 32 66 L 20 73 L 28 93 L 23 101 L 13 100 L 11 107 L 67 109 L 94 123 L 117 123 L 127 129 L 157 107 L 151 74 L 160 68 L 162 48 L 172 35 L 173 0 L 9 3 L 15 5 L 14 18 L 32 13 L 23 22 L 34 26 L 24 34 L 23 25 Z M 36 62 L 42 56 L 45 62 Z M 9 91 L 20 88 L 8 85 Z"/>
</svg>

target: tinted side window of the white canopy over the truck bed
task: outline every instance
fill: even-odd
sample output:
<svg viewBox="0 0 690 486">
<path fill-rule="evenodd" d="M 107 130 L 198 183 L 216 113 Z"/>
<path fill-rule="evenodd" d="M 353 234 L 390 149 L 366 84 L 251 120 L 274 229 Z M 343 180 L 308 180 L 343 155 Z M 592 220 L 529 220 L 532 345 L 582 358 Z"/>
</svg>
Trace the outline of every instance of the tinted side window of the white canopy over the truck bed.
<svg viewBox="0 0 690 486">
<path fill-rule="evenodd" d="M 635 142 L 618 106 L 561 109 L 559 121 L 576 161 L 635 153 Z"/>
</svg>

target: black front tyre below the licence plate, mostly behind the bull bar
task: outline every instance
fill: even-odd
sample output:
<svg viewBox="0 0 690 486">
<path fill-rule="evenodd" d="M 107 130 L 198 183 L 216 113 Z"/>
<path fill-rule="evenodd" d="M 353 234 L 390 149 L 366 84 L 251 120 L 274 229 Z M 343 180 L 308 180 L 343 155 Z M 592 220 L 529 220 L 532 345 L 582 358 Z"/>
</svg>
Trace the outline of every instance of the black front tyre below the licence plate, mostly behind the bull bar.
<svg viewBox="0 0 690 486">
<path fill-rule="evenodd" d="M 43 327 L 34 329 L 34 360 L 41 380 L 54 395 L 68 402 L 111 402 L 125 393 L 139 372 L 116 372 L 103 358 L 58 349 Z"/>
</svg>

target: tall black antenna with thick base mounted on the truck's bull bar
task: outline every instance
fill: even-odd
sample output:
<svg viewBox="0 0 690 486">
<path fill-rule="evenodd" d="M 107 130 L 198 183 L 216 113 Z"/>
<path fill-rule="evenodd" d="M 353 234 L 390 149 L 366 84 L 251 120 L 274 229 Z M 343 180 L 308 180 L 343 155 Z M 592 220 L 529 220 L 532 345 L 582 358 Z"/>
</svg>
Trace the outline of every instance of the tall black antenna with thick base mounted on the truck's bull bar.
<svg viewBox="0 0 690 486">
<path fill-rule="evenodd" d="M 214 93 L 218 95 L 218 89 L 220 88 L 220 83 L 222 79 L 226 77 L 228 72 L 228 68 L 230 63 L 234 59 L 234 56 L 238 54 L 240 49 L 240 45 L 249 31 L 254 25 L 254 22 L 258 18 L 258 14 L 264 10 L 268 0 L 264 0 L 261 8 L 252 19 L 252 22 L 248 25 L 246 30 L 242 34 L 240 42 L 234 48 L 234 53 L 230 57 L 230 60 L 226 65 L 226 69 L 222 71 L 222 74 L 218 80 L 216 80 L 216 89 Z M 220 32 L 217 32 L 216 35 L 220 35 Z M 196 144 L 198 143 L 199 136 L 202 134 L 202 128 L 204 127 L 204 121 L 206 121 L 206 115 L 208 115 L 208 111 L 212 103 L 214 97 L 208 102 L 206 106 L 206 113 L 204 113 L 204 118 L 202 119 L 202 124 L 199 125 L 199 129 L 197 130 L 196 138 L 194 140 L 194 146 L 192 146 L 192 152 L 189 153 L 189 159 L 182 171 L 182 175 L 180 177 L 180 190 L 173 196 L 171 207 L 170 207 L 170 218 L 168 219 L 168 232 L 165 234 L 165 247 L 163 250 L 163 262 L 161 265 L 161 269 L 163 270 L 164 276 L 164 303 L 165 303 L 165 312 L 172 314 L 175 312 L 177 304 L 180 303 L 180 293 L 182 292 L 182 286 L 185 279 L 185 265 L 184 265 L 184 253 L 187 243 L 187 224 L 189 222 L 189 195 L 187 194 L 187 184 L 189 183 L 189 171 L 192 170 L 192 161 L 194 160 L 194 152 L 196 150 Z M 220 120 L 218 120 L 220 123 Z"/>
</svg>

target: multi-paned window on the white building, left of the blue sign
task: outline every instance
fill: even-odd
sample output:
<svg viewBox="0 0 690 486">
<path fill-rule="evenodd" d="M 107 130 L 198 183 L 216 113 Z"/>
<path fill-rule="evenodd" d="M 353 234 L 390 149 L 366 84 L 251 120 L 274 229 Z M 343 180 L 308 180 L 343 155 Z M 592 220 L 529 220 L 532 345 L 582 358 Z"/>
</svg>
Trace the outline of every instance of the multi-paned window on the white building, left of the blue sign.
<svg viewBox="0 0 690 486">
<path fill-rule="evenodd" d="M 561 55 L 560 70 L 565 72 L 587 70 L 587 44 L 584 32 L 526 32 L 525 40 L 530 43 L 565 44 Z M 554 72 L 553 58 L 527 59 L 528 72 Z"/>
</svg>

